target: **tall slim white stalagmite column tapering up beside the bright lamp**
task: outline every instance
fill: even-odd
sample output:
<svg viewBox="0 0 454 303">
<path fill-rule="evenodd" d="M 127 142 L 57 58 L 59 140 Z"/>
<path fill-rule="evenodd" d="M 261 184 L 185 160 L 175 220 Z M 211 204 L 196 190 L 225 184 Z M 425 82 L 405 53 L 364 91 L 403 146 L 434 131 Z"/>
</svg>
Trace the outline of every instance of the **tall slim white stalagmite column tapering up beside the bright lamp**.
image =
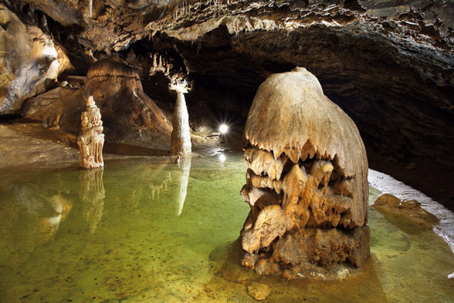
<svg viewBox="0 0 454 303">
<path fill-rule="evenodd" d="M 187 89 L 174 87 L 177 91 L 177 103 L 173 112 L 172 142 L 170 143 L 170 155 L 185 155 L 192 151 L 191 134 L 189 133 L 189 114 L 187 113 L 184 93 Z"/>
</svg>

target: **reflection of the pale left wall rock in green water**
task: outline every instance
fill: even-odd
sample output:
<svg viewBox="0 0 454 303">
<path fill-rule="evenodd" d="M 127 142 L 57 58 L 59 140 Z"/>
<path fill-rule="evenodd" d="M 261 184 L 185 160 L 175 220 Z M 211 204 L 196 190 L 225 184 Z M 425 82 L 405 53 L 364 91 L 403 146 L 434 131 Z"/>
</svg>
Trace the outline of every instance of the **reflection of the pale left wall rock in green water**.
<svg viewBox="0 0 454 303">
<path fill-rule="evenodd" d="M 0 277 L 1 265 L 20 266 L 54 238 L 74 202 L 59 174 L 32 182 L 28 177 L 33 175 L 0 178 Z"/>
</svg>

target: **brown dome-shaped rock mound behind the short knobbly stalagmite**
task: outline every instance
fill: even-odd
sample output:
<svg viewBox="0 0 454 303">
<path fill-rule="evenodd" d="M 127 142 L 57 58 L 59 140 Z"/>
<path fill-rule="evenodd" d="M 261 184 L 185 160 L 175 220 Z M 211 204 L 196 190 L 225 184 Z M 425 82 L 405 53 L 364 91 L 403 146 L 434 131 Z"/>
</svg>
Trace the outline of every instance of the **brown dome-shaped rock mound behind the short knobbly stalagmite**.
<svg viewBox="0 0 454 303">
<path fill-rule="evenodd" d="M 169 119 L 143 92 L 138 73 L 117 57 L 99 60 L 89 68 L 84 96 L 93 96 L 99 105 L 108 138 L 131 141 L 143 133 L 150 145 L 166 141 L 167 146 L 155 147 L 169 148 Z"/>
</svg>

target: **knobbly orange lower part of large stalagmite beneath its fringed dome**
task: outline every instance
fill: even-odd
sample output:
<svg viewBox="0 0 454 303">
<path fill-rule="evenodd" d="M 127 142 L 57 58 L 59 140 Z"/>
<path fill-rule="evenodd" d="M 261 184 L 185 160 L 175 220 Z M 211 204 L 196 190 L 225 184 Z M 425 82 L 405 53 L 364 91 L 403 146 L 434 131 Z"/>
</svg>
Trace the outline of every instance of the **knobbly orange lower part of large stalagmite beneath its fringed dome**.
<svg viewBox="0 0 454 303">
<path fill-rule="evenodd" d="M 248 172 L 241 195 L 251 211 L 241 232 L 247 252 L 243 265 L 278 273 L 315 261 L 326 265 L 349 260 L 360 266 L 367 258 L 369 230 L 364 218 L 353 216 L 355 182 L 336 170 L 336 160 L 293 162 L 285 153 L 275 158 L 260 148 L 245 150 L 245 160 Z M 326 243 L 343 249 L 319 256 Z"/>
</svg>

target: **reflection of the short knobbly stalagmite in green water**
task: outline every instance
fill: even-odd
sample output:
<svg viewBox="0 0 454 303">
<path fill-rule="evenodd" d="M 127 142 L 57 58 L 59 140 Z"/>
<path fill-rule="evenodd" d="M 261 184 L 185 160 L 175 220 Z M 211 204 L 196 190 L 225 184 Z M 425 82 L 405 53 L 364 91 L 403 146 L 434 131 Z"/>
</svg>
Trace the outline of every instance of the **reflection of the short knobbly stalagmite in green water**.
<svg viewBox="0 0 454 303">
<path fill-rule="evenodd" d="M 84 205 L 84 219 L 89 223 L 91 233 L 101 221 L 104 209 L 104 183 L 102 182 L 103 167 L 96 170 L 81 170 L 79 175 L 79 197 Z"/>
</svg>

